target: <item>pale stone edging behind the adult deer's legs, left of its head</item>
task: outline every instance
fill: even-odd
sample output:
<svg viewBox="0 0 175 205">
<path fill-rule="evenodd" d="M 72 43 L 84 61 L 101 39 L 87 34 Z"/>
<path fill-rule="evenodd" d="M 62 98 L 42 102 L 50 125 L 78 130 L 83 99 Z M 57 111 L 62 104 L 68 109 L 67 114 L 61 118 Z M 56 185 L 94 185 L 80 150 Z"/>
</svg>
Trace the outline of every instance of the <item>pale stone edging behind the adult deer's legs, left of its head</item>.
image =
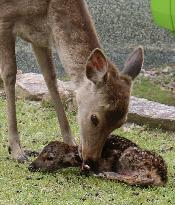
<svg viewBox="0 0 175 205">
<path fill-rule="evenodd" d="M 65 107 L 72 111 L 76 107 L 74 85 L 71 82 L 57 80 L 58 90 Z M 42 101 L 44 105 L 51 105 L 51 98 L 44 78 L 41 74 L 25 73 L 17 75 L 16 92 L 19 98 Z"/>
</svg>

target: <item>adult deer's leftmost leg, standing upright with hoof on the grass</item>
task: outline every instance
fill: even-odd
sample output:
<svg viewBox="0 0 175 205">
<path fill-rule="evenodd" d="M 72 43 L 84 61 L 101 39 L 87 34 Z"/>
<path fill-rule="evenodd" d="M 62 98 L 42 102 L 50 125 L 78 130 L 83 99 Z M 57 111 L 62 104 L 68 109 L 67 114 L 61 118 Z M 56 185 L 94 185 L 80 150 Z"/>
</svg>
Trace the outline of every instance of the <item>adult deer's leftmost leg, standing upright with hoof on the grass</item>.
<svg viewBox="0 0 175 205">
<path fill-rule="evenodd" d="M 9 152 L 18 162 L 24 162 L 27 158 L 20 146 L 16 120 L 15 83 L 17 68 L 15 39 L 7 32 L 2 32 L 2 28 L 0 29 L 0 69 L 7 98 Z"/>
</svg>

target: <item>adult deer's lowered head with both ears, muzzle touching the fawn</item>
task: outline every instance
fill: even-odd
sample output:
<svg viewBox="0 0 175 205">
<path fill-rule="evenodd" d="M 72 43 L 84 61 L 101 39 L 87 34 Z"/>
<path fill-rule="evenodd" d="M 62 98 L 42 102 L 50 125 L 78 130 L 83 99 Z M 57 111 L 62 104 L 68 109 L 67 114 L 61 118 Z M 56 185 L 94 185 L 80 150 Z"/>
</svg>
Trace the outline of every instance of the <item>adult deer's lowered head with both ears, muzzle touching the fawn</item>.
<svg viewBox="0 0 175 205">
<path fill-rule="evenodd" d="M 86 79 L 77 90 L 80 125 L 80 154 L 83 161 L 100 158 L 106 137 L 127 119 L 132 80 L 143 65 L 143 49 L 138 47 L 119 72 L 100 49 L 90 54 Z"/>
</svg>

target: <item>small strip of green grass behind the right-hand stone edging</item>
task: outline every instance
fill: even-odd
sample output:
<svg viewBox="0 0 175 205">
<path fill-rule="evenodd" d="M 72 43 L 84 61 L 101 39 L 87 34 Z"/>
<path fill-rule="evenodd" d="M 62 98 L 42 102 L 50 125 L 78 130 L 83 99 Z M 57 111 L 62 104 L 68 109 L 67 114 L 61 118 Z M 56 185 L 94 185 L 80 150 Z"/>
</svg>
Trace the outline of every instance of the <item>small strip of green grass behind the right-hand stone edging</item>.
<svg viewBox="0 0 175 205">
<path fill-rule="evenodd" d="M 132 95 L 175 106 L 175 95 L 169 90 L 162 90 L 160 84 L 147 78 L 136 79 Z"/>
</svg>

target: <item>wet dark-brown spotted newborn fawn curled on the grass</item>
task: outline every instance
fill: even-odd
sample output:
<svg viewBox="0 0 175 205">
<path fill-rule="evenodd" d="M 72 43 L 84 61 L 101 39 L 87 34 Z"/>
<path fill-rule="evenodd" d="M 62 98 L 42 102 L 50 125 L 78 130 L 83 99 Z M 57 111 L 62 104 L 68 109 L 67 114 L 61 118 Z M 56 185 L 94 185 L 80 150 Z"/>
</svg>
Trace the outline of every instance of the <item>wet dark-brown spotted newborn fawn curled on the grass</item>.
<svg viewBox="0 0 175 205">
<path fill-rule="evenodd" d="M 44 147 L 29 170 L 54 171 L 81 164 L 77 146 L 53 141 Z M 96 164 L 85 165 L 85 168 L 92 169 L 96 176 L 130 185 L 161 186 L 167 182 L 167 166 L 161 156 L 141 150 L 130 140 L 115 135 L 107 138 L 101 159 Z"/>
</svg>

